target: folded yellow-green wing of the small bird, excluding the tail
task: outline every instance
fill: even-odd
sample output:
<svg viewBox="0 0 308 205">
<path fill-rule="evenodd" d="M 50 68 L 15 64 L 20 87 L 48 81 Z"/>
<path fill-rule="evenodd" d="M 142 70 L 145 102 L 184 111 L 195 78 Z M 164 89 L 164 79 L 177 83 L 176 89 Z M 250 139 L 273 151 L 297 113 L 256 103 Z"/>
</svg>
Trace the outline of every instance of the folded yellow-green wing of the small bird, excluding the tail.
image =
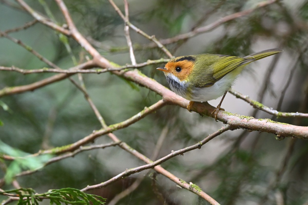
<svg viewBox="0 0 308 205">
<path fill-rule="evenodd" d="M 207 79 L 206 83 L 199 83 L 196 87 L 204 88 L 210 87 L 214 85 L 216 81 L 224 77 L 226 74 L 230 73 L 234 69 L 240 67 L 241 65 L 245 65 L 256 59 L 254 57 L 246 56 L 245 58 L 236 57 L 236 56 L 225 56 L 219 55 L 220 58 L 217 59 L 217 62 L 213 64 L 215 69 L 213 69 L 213 77 L 211 79 Z"/>
</svg>

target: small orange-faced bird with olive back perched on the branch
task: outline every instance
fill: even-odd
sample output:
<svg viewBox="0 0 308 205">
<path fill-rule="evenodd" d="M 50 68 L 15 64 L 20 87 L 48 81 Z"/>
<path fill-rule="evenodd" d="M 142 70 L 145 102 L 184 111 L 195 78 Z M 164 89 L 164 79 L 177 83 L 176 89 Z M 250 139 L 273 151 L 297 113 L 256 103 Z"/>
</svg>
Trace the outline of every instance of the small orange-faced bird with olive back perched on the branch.
<svg viewBox="0 0 308 205">
<path fill-rule="evenodd" d="M 190 112 L 194 102 L 206 102 L 223 96 L 211 113 L 217 121 L 218 111 L 224 110 L 220 108 L 221 103 L 244 67 L 282 51 L 269 49 L 245 57 L 209 53 L 180 56 L 157 69 L 164 72 L 173 92 L 190 101 L 187 106 Z"/>
</svg>

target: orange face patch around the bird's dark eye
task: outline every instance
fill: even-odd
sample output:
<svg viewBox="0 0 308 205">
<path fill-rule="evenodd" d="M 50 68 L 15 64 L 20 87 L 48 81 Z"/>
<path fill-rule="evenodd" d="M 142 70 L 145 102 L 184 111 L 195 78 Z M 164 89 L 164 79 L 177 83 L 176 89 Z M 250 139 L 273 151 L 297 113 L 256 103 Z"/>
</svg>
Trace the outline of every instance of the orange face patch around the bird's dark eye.
<svg viewBox="0 0 308 205">
<path fill-rule="evenodd" d="M 193 61 L 169 61 L 166 65 L 165 68 L 167 69 L 165 72 L 172 73 L 174 76 L 178 77 L 180 81 L 184 81 L 187 79 L 189 74 L 193 71 L 194 67 L 194 62 Z M 180 67 L 182 70 L 180 72 L 176 71 L 176 68 Z"/>
</svg>

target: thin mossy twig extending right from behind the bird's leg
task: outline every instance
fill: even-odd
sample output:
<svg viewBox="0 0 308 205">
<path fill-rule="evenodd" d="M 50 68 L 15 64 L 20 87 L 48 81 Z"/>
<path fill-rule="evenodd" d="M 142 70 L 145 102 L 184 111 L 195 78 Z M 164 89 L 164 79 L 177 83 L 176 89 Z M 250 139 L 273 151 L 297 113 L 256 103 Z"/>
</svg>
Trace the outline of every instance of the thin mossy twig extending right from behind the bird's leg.
<svg viewBox="0 0 308 205">
<path fill-rule="evenodd" d="M 264 104 L 261 104 L 258 101 L 252 100 L 249 96 L 243 95 L 233 89 L 229 91 L 229 93 L 233 94 L 235 97 L 240 98 L 246 102 L 248 102 L 250 105 L 252 105 L 254 108 L 257 108 L 259 110 L 262 110 L 264 112 L 267 112 L 271 115 L 278 116 L 278 117 L 308 117 L 308 113 L 301 113 L 301 112 L 279 112 L 277 110 L 274 110 L 273 108 L 269 108 L 265 106 Z"/>
</svg>

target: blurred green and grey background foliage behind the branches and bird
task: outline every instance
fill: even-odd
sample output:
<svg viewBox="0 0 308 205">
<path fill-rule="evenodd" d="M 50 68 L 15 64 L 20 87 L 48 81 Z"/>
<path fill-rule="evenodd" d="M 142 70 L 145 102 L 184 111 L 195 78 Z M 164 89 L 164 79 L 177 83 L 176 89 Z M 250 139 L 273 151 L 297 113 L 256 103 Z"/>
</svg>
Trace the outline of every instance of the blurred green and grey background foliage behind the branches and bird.
<svg viewBox="0 0 308 205">
<path fill-rule="evenodd" d="M 55 18 L 59 25 L 65 22 L 54 1 L 26 2 L 49 18 Z M 261 1 L 128 2 L 130 21 L 134 25 L 158 39 L 167 39 L 208 25 L 226 15 L 252 9 Z M 130 64 L 123 20 L 108 1 L 67 0 L 65 3 L 79 31 L 103 56 L 120 65 Z M 124 11 L 123 1 L 118 0 L 115 3 Z M 198 53 L 246 56 L 264 49 L 284 49 L 284 53 L 276 60 L 269 57 L 251 65 L 239 77 L 234 89 L 269 107 L 279 107 L 279 111 L 308 112 L 307 18 L 308 1 L 277 1 L 209 32 L 167 44 L 166 47 L 175 56 Z M 22 26 L 31 20 L 33 18 L 14 1 L 0 0 L 1 31 Z M 133 31 L 130 33 L 137 62 L 166 58 L 165 54 L 160 49 L 153 48 L 147 39 Z M 77 62 L 84 61 L 87 55 L 72 39 L 68 39 L 72 50 L 72 53 L 69 53 L 65 44 L 59 40 L 59 35 L 39 23 L 9 35 L 20 39 L 63 69 L 74 65 L 72 55 Z M 14 65 L 22 69 L 47 66 L 4 37 L 0 38 L 0 45 L 1 66 Z M 160 66 L 151 65 L 140 70 L 167 86 L 163 74 L 155 70 Z M 274 69 L 269 73 L 271 68 Z M 22 75 L 0 71 L 0 89 L 30 84 L 53 75 Z M 123 121 L 161 99 L 156 93 L 138 85 L 132 86 L 109 73 L 83 74 L 83 77 L 90 97 L 107 124 Z M 77 76 L 73 78 L 78 81 Z M 218 101 L 220 99 L 210 101 L 210 104 L 216 106 Z M 279 101 L 282 102 L 280 106 Z M 0 126 L 1 150 L 9 146 L 22 152 L 35 153 L 40 149 L 73 143 L 101 128 L 83 94 L 67 79 L 34 92 L 4 96 L 0 98 L 0 105 L 0 120 L 3 123 Z M 308 125 L 308 119 L 276 119 L 255 111 L 247 103 L 230 94 L 227 94 L 222 107 L 241 115 Z M 168 133 L 158 156 L 162 157 L 172 150 L 197 143 L 221 125 L 222 123 L 216 123 L 212 118 L 201 117 L 176 106 L 166 106 L 114 133 L 120 140 L 150 157 L 163 128 L 167 128 Z M 106 142 L 110 142 L 106 136 L 95 140 L 96 144 Z M 307 141 L 278 141 L 272 134 L 236 130 L 225 132 L 200 150 L 172 158 L 162 166 L 181 179 L 196 183 L 221 204 L 303 205 L 308 203 L 307 162 Z M 12 162 L 1 160 L 0 163 L 0 176 L 3 177 Z M 17 180 L 22 187 L 31 187 L 39 193 L 63 187 L 81 189 L 106 181 L 126 168 L 142 164 L 144 163 L 120 148 L 111 147 L 79 153 L 74 158 L 48 165 L 39 172 L 18 177 Z M 129 176 L 91 193 L 107 198 L 108 202 L 143 175 L 146 176 L 140 186 L 118 204 L 208 204 L 197 195 L 181 190 L 161 175 L 151 177 L 148 171 Z M 1 186 L 4 190 L 13 188 L 3 180 Z M 158 188 L 163 202 L 157 197 L 155 187 Z"/>
</svg>

